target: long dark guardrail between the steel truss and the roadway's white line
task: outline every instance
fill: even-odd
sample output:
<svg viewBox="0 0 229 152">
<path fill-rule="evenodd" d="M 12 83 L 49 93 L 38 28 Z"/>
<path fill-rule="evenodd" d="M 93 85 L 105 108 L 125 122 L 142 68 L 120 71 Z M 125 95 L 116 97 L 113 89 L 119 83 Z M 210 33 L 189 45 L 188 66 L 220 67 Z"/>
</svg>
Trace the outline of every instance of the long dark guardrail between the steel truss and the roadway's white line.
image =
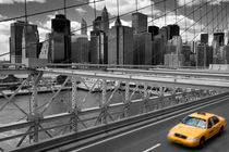
<svg viewBox="0 0 229 152">
<path fill-rule="evenodd" d="M 133 129 L 135 127 L 146 125 L 146 123 L 156 122 L 156 121 L 169 117 L 171 115 L 197 107 L 200 105 L 209 104 L 217 100 L 227 99 L 227 98 L 229 98 L 229 92 L 204 98 L 204 99 L 188 102 L 188 103 L 182 103 L 179 105 L 173 105 L 170 107 L 157 110 L 157 111 L 149 112 L 146 114 L 141 114 L 137 116 L 131 116 L 129 118 L 123 118 L 118 122 L 112 122 L 112 123 L 100 125 L 91 129 L 85 129 L 80 132 L 74 132 L 74 134 L 62 136 L 62 137 L 57 137 L 55 139 L 43 141 L 40 143 L 28 145 L 26 148 L 20 148 L 20 149 L 14 150 L 13 152 L 25 152 L 25 151 L 38 152 L 38 151 L 49 151 L 57 148 L 61 151 L 72 150 L 72 149 L 75 149 L 75 147 L 80 147 L 80 145 L 71 144 L 73 142 L 75 143 L 84 139 L 89 139 L 89 138 L 92 139 L 93 137 L 98 137 L 98 138 L 94 138 L 93 140 L 99 140 L 99 138 L 104 139 L 105 137 L 119 134 L 120 131 L 126 131 L 128 129 Z M 124 127 L 126 128 L 123 130 L 122 128 Z M 118 131 L 116 132 L 116 130 Z M 60 149 L 61 147 L 63 147 L 63 149 Z"/>
</svg>

